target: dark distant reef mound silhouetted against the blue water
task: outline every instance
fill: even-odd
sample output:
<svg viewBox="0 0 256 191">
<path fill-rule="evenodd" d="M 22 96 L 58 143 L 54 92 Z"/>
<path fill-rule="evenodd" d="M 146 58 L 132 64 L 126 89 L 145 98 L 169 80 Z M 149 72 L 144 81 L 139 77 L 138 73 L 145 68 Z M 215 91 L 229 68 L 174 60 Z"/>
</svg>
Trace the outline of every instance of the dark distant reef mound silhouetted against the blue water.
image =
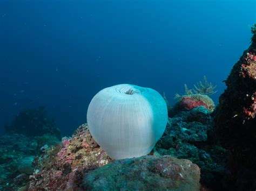
<svg viewBox="0 0 256 191">
<path fill-rule="evenodd" d="M 55 122 L 48 117 L 43 107 L 19 112 L 11 125 L 5 126 L 5 132 L 31 137 L 49 133 L 61 139 L 60 131 L 55 127 Z"/>
</svg>

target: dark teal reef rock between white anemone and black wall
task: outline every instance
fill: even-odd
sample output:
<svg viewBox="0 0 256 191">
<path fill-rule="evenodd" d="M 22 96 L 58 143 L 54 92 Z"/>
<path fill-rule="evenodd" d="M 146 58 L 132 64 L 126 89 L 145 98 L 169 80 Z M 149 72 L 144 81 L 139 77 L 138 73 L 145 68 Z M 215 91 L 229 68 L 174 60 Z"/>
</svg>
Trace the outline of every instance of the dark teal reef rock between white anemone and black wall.
<svg viewBox="0 0 256 191">
<path fill-rule="evenodd" d="M 191 160 L 201 169 L 200 182 L 220 190 L 223 188 L 221 179 L 225 174 L 228 152 L 216 140 L 211 114 L 201 106 L 169 118 L 154 152 Z"/>
</svg>

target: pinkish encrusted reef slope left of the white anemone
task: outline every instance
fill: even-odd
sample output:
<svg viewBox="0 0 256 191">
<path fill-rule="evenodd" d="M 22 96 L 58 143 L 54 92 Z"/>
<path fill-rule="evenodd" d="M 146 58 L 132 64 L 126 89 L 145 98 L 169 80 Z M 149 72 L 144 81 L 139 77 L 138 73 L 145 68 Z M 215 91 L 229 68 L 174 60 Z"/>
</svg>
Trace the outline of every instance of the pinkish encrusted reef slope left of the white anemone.
<svg viewBox="0 0 256 191">
<path fill-rule="evenodd" d="M 81 125 L 72 138 L 34 161 L 36 172 L 30 176 L 28 190 L 83 190 L 84 172 L 113 160 L 92 138 L 87 125 Z"/>
</svg>

